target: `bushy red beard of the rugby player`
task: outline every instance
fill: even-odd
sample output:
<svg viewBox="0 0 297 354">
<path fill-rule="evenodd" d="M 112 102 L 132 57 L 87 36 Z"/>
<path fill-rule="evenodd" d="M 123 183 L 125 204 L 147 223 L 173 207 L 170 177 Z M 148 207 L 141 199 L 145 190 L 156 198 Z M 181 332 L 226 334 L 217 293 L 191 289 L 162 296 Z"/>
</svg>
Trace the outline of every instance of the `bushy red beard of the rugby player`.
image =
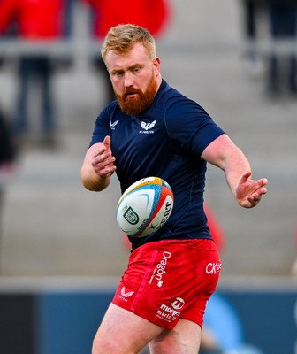
<svg viewBox="0 0 297 354">
<path fill-rule="evenodd" d="M 130 116 L 137 116 L 147 111 L 150 104 L 154 101 L 156 91 L 157 83 L 155 76 L 152 75 L 144 92 L 141 89 L 126 88 L 122 95 L 119 95 L 116 91 L 115 95 L 118 98 L 119 107 L 123 112 Z M 136 96 L 128 96 L 132 94 L 136 94 Z"/>
</svg>

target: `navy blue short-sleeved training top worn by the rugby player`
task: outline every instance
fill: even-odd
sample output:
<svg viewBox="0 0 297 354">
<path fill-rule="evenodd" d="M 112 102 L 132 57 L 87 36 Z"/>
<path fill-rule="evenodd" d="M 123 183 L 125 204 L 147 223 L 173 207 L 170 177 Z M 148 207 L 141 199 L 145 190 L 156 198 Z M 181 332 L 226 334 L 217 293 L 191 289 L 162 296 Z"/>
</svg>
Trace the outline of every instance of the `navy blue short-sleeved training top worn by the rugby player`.
<svg viewBox="0 0 297 354">
<path fill-rule="evenodd" d="M 164 227 L 145 238 L 130 237 L 133 250 L 164 239 L 211 239 L 203 211 L 206 161 L 201 155 L 222 134 L 199 104 L 164 80 L 154 102 L 141 115 L 127 115 L 117 101 L 99 114 L 90 145 L 110 135 L 122 193 L 148 176 L 163 178 L 173 192 L 173 210 Z"/>
</svg>

